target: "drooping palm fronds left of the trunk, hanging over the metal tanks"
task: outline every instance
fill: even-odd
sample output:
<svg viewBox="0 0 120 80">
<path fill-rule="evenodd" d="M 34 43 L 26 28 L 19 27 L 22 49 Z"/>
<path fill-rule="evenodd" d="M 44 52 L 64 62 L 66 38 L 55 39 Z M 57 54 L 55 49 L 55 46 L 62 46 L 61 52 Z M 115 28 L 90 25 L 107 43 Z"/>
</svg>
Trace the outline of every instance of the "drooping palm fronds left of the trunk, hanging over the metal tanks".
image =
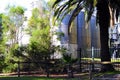
<svg viewBox="0 0 120 80">
<path fill-rule="evenodd" d="M 90 20 L 93 14 L 94 7 L 97 4 L 97 0 L 67 0 L 62 3 L 63 0 L 56 0 L 54 2 L 53 8 L 55 9 L 54 16 L 55 21 L 57 19 L 63 20 L 67 14 L 71 14 L 69 19 L 68 27 L 70 27 L 72 21 L 79 14 L 79 12 L 86 7 L 87 11 L 87 21 Z M 60 5 L 62 3 L 62 5 Z M 54 22 L 55 22 L 54 21 Z"/>
</svg>

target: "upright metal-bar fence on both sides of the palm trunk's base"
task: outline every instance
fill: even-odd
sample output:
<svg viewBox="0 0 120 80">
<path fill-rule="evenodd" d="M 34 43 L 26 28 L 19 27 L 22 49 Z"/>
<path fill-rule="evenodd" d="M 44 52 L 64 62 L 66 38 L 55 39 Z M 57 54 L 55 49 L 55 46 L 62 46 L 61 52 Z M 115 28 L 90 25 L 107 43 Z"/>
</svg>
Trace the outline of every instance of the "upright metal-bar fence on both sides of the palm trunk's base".
<svg viewBox="0 0 120 80">
<path fill-rule="evenodd" d="M 111 50 L 111 49 L 110 49 Z M 120 50 L 118 50 L 120 51 Z M 84 52 L 84 51 L 83 51 Z M 81 69 L 83 72 L 88 71 L 90 64 L 92 64 L 93 70 L 100 70 L 101 65 L 105 64 L 106 62 L 101 62 L 100 60 L 100 49 L 92 47 L 91 49 L 86 49 L 86 53 L 81 51 Z M 120 53 L 120 52 L 118 52 Z M 114 53 L 111 53 L 111 62 L 107 62 L 112 64 L 115 70 L 120 71 L 120 58 L 119 57 L 112 57 Z"/>
</svg>

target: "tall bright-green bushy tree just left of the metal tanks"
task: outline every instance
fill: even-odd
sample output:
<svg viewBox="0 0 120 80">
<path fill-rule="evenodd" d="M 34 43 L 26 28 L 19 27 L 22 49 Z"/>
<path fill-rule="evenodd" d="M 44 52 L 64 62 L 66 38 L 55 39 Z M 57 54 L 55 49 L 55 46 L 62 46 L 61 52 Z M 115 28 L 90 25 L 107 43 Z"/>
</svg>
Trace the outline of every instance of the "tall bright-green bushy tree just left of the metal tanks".
<svg viewBox="0 0 120 80">
<path fill-rule="evenodd" d="M 45 12 L 43 11 L 43 13 Z M 31 34 L 29 57 L 34 61 L 49 58 L 52 53 L 49 15 L 40 14 L 39 9 L 34 8 L 28 26 L 28 31 Z"/>
</svg>

